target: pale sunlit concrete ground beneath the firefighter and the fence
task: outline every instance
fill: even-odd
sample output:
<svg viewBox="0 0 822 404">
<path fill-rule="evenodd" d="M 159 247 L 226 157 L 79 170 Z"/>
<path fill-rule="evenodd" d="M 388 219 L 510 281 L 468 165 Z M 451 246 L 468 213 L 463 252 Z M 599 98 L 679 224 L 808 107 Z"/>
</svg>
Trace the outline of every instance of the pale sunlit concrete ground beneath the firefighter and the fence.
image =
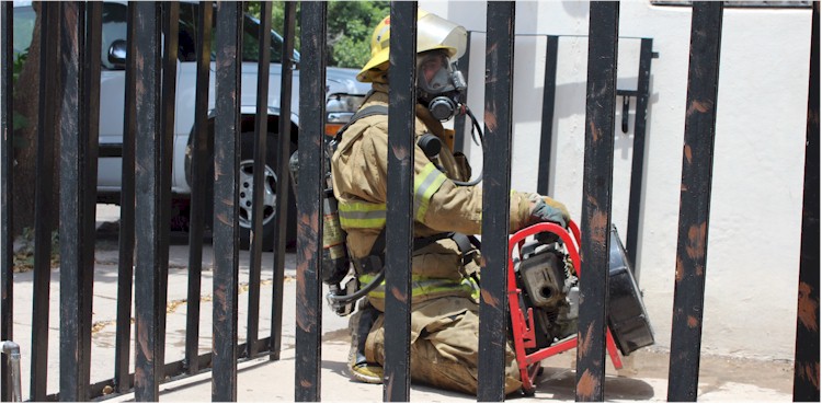
<svg viewBox="0 0 822 404">
<path fill-rule="evenodd" d="M 92 383 L 114 376 L 114 347 L 116 296 L 117 296 L 117 241 L 106 236 L 103 229 L 98 240 L 95 254 L 92 332 Z M 202 276 L 199 353 L 212 348 L 213 272 L 212 249 L 204 249 Z M 187 245 L 172 245 L 170 250 L 169 292 L 167 305 L 165 361 L 183 358 L 185 347 L 185 314 L 187 290 Z M 272 305 L 273 256 L 263 254 L 263 274 L 260 304 L 260 336 L 270 334 Z M 240 314 L 239 338 L 247 338 L 248 312 L 248 252 L 240 254 Z M 293 402 L 295 397 L 295 296 L 296 257 L 286 257 L 286 280 L 283 310 L 283 350 L 278 361 L 267 357 L 241 362 L 238 373 L 238 401 L 241 402 Z M 33 274 L 14 274 L 14 336 L 21 345 L 23 397 L 31 397 L 31 333 Z M 48 348 L 48 394 L 59 390 L 59 268 L 52 273 Z M 323 304 L 322 314 L 322 363 L 321 400 L 328 402 L 381 402 L 383 386 L 353 382 L 349 378 L 346 359 L 349 351 L 347 319 L 332 313 Z M 670 332 L 657 330 L 657 333 Z M 134 327 L 132 328 L 134 334 Z M 134 344 L 134 337 L 132 338 Z M 134 345 L 130 350 L 134 370 Z M 511 396 L 515 401 L 549 400 L 574 401 L 575 351 L 551 357 L 544 361 L 545 372 L 540 377 L 533 397 Z M 626 369 L 617 372 L 607 365 L 605 399 L 607 401 L 665 401 L 667 395 L 669 356 L 658 347 L 640 349 L 624 359 Z M 162 402 L 209 402 L 212 400 L 210 372 L 169 381 L 160 388 Z M 698 401 L 709 402 L 790 402 L 792 391 L 792 363 L 784 361 L 757 361 L 742 358 L 703 356 L 700 359 Z M 105 400 L 105 399 L 104 399 Z M 134 401 L 134 394 L 112 395 L 106 401 Z M 476 397 L 441 391 L 423 385 L 412 385 L 412 402 L 473 402 Z"/>
</svg>

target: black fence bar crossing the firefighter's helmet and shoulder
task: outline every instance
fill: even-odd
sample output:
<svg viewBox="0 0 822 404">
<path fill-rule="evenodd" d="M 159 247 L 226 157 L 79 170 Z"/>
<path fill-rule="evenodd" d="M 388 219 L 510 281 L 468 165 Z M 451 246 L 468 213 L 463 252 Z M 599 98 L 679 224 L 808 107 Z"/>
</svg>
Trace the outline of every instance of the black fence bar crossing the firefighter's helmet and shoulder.
<svg viewBox="0 0 822 404">
<path fill-rule="evenodd" d="M 385 384 L 383 400 L 411 394 L 412 186 L 416 104 L 416 2 L 391 2 L 386 217 Z"/>
</svg>

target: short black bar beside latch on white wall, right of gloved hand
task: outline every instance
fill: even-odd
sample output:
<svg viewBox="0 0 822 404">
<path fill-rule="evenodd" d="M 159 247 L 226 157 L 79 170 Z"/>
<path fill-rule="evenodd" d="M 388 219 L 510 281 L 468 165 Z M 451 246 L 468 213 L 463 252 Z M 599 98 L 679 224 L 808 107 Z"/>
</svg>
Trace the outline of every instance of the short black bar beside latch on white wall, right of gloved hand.
<svg viewBox="0 0 822 404">
<path fill-rule="evenodd" d="M 633 117 L 633 155 L 631 160 L 631 184 L 628 197 L 628 231 L 626 250 L 631 263 L 633 277 L 639 281 L 637 250 L 639 249 L 639 217 L 642 204 L 642 175 L 646 164 L 646 125 L 648 119 L 648 101 L 651 96 L 651 60 L 653 59 L 653 39 L 642 38 L 639 48 L 639 72 L 637 73 L 637 112 Z"/>
</svg>

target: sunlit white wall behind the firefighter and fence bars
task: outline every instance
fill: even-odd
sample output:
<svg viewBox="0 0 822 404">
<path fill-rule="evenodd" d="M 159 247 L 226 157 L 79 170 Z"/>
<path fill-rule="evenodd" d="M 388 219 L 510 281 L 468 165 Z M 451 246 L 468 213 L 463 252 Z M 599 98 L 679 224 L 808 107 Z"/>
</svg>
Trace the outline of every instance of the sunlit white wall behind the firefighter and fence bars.
<svg viewBox="0 0 822 404">
<path fill-rule="evenodd" d="M 421 1 L 465 25 L 471 42 L 469 100 L 481 119 L 484 2 Z M 579 220 L 582 206 L 589 3 L 516 3 L 512 187 L 535 191 L 539 159 L 545 38 L 560 39 L 550 193 Z M 792 359 L 810 55 L 810 9 L 726 9 L 723 18 L 703 351 Z M 643 208 L 638 266 L 658 346 L 670 347 L 690 9 L 620 5 L 618 88 L 636 89 L 639 39 L 653 38 Z M 626 235 L 631 126 L 617 104 L 614 212 Z M 479 148 L 470 150 L 475 171 Z"/>
</svg>

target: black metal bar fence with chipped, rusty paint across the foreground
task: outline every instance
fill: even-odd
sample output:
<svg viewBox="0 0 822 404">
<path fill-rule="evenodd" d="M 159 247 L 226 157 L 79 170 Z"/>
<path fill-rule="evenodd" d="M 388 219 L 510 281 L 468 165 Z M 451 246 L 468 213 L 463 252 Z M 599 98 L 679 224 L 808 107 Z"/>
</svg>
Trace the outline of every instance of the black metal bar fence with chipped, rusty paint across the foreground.
<svg viewBox="0 0 822 404">
<path fill-rule="evenodd" d="M 272 303 L 271 335 L 258 337 L 260 305 L 261 243 L 252 238 L 249 293 L 248 340 L 238 340 L 238 165 L 240 111 L 239 77 L 242 49 L 242 3 L 218 2 L 212 13 L 208 1 L 201 3 L 197 42 L 197 101 L 195 130 L 192 140 L 192 211 L 190 230 L 189 309 L 185 359 L 167 362 L 164 359 L 165 304 L 169 276 L 169 220 L 171 136 L 174 122 L 175 69 L 178 49 L 179 4 L 176 2 L 134 2 L 128 5 L 128 55 L 126 68 L 126 108 L 123 140 L 123 187 L 117 275 L 116 359 L 113 376 L 107 380 L 90 380 L 91 295 L 94 266 L 94 204 L 95 173 L 99 157 L 98 122 L 100 91 L 101 5 L 98 2 L 44 2 L 41 9 L 41 74 L 38 84 L 39 120 L 37 131 L 37 181 L 34 255 L 33 335 L 15 335 L 12 303 L 14 297 L 12 238 L 12 3 L 1 4 L 2 33 L 2 336 L 3 340 L 32 338 L 31 396 L 33 401 L 88 401 L 103 394 L 105 386 L 116 392 L 134 391 L 137 401 L 158 401 L 159 384 L 165 378 L 182 378 L 212 370 L 213 400 L 237 400 L 238 361 L 269 355 L 279 358 L 282 340 L 283 276 L 285 255 L 285 220 L 288 186 L 279 181 L 277 194 L 278 233 L 274 242 L 274 301 Z M 262 5 L 261 31 L 271 26 L 270 4 Z M 285 13 L 285 44 L 283 55 L 294 47 L 296 4 L 288 2 Z M 320 253 L 322 240 L 320 197 L 322 192 L 322 147 L 324 128 L 326 86 L 326 13 L 324 2 L 301 3 L 301 82 L 299 86 L 299 171 L 297 195 L 297 330 L 295 363 L 295 399 L 319 401 L 321 354 L 321 280 Z M 608 284 L 610 229 L 610 182 L 613 175 L 613 138 L 615 101 L 618 95 L 637 96 L 637 125 L 633 172 L 641 173 L 643 164 L 644 113 L 648 106 L 648 77 L 652 58 L 652 42 L 643 39 L 636 93 L 616 89 L 617 38 L 619 5 L 616 2 L 591 3 L 585 162 L 581 229 L 581 249 L 586 274 L 582 282 L 580 308 L 580 344 L 590 349 L 578 350 L 579 401 L 603 401 L 605 376 L 605 315 Z M 413 93 L 414 71 L 410 68 L 415 54 L 415 2 L 395 2 L 391 5 L 391 93 Z M 480 311 L 480 369 L 478 400 L 502 401 L 504 333 L 507 265 L 507 212 L 512 154 L 513 93 L 513 2 L 489 2 L 487 27 L 487 64 L 490 77 L 486 84 L 486 115 L 495 117 L 488 127 L 488 147 L 495 150 L 484 161 L 483 256 L 486 270 L 482 282 Z M 212 55 L 210 26 L 216 20 L 216 113 L 214 142 L 207 130 L 208 64 Z M 595 24 L 593 22 L 596 22 Z M 722 4 L 694 2 L 690 45 L 690 68 L 686 107 L 685 145 L 676 266 L 676 289 L 672 330 L 671 376 L 669 400 L 693 401 L 699 370 L 701 312 L 707 256 L 711 159 L 716 120 L 719 44 Z M 806 369 L 819 369 L 819 2 L 813 2 L 811 78 L 808 101 L 808 148 L 806 155 L 804 205 L 802 212 L 802 252 L 800 266 L 799 305 L 815 310 L 813 323 L 797 321 L 795 399 L 819 400 L 819 374 Z M 261 35 L 267 37 L 269 35 Z M 556 37 L 549 37 L 549 49 L 556 55 Z M 163 51 L 167 49 L 168 51 Z M 266 119 L 263 116 L 269 69 L 269 44 L 260 48 L 260 82 L 258 85 L 258 119 L 254 127 L 255 159 L 263 161 L 266 149 Z M 547 58 L 549 65 L 556 57 Z M 289 116 L 292 97 L 290 60 L 283 60 L 281 103 L 282 116 Z M 465 64 L 467 65 L 467 64 Z M 556 65 L 546 69 L 546 108 L 544 116 L 552 120 L 552 80 Z M 395 96 L 390 106 L 389 143 L 389 204 L 387 217 L 387 262 L 406 270 L 390 270 L 386 312 L 387 353 L 385 384 L 386 401 L 408 401 L 409 374 L 409 291 L 410 249 L 412 227 L 407 213 L 411 206 L 411 173 L 413 146 L 411 136 L 414 97 Z M 318 107 L 319 106 L 319 107 Z M 641 114 L 641 115 L 640 115 Z M 279 122 L 279 134 L 289 134 L 287 119 Z M 460 125 L 458 124 L 457 127 Z M 550 125 L 543 131 L 543 155 L 550 155 Z M 640 136 L 641 135 L 641 136 Z M 59 150 L 55 148 L 59 138 Z M 287 178 L 286 161 L 289 136 L 281 136 L 277 145 L 279 178 Z M 459 142 L 459 141 L 458 141 Z M 213 160 L 208 160 L 212 154 Z M 54 153 L 60 155 L 60 174 L 54 177 Z M 548 159 L 539 168 L 539 191 L 547 189 Z M 197 353 L 199 335 L 199 295 L 203 252 L 204 205 L 208 165 L 214 166 L 214 321 L 213 351 Z M 258 174 L 258 170 L 254 174 Z M 59 181 L 60 200 L 52 200 L 52 182 Z M 254 181 L 261 186 L 262 181 Z M 637 216 L 641 209 L 641 175 L 631 181 L 631 208 L 628 243 L 637 239 Z M 254 195 L 262 195 L 260 188 Z M 286 200 L 283 200 L 286 199 Z M 55 204 L 60 204 L 60 390 L 46 391 L 48 351 L 48 301 L 50 275 L 50 234 Z M 259 197 L 254 211 L 261 209 Z M 135 207 L 139 206 L 139 209 Z M 799 213 L 799 212 L 797 212 Z M 253 215 L 253 233 L 260 233 L 261 215 Z M 632 223 L 632 224 L 631 224 Z M 632 229 L 632 230 L 630 230 Z M 596 235 L 602 235 L 597 238 Z M 629 251 L 636 249 L 629 247 Z M 633 258 L 633 257 L 631 257 Z M 134 269 L 133 269 L 134 268 Z M 132 279 L 134 278 L 134 285 Z M 593 279 L 593 281 L 590 281 Z M 132 287 L 134 286 L 134 295 Z M 134 299 L 136 344 L 135 372 L 129 372 L 130 323 Z M 590 331 L 589 331 L 590 330 Z M 3 358 L 5 359 L 5 358 Z M 2 361 L 2 400 L 11 400 L 11 380 L 5 360 Z M 814 368 L 815 367 L 815 368 Z M 815 379 L 814 379 L 815 376 Z M 54 376 L 52 376 L 54 377 Z"/>
</svg>

